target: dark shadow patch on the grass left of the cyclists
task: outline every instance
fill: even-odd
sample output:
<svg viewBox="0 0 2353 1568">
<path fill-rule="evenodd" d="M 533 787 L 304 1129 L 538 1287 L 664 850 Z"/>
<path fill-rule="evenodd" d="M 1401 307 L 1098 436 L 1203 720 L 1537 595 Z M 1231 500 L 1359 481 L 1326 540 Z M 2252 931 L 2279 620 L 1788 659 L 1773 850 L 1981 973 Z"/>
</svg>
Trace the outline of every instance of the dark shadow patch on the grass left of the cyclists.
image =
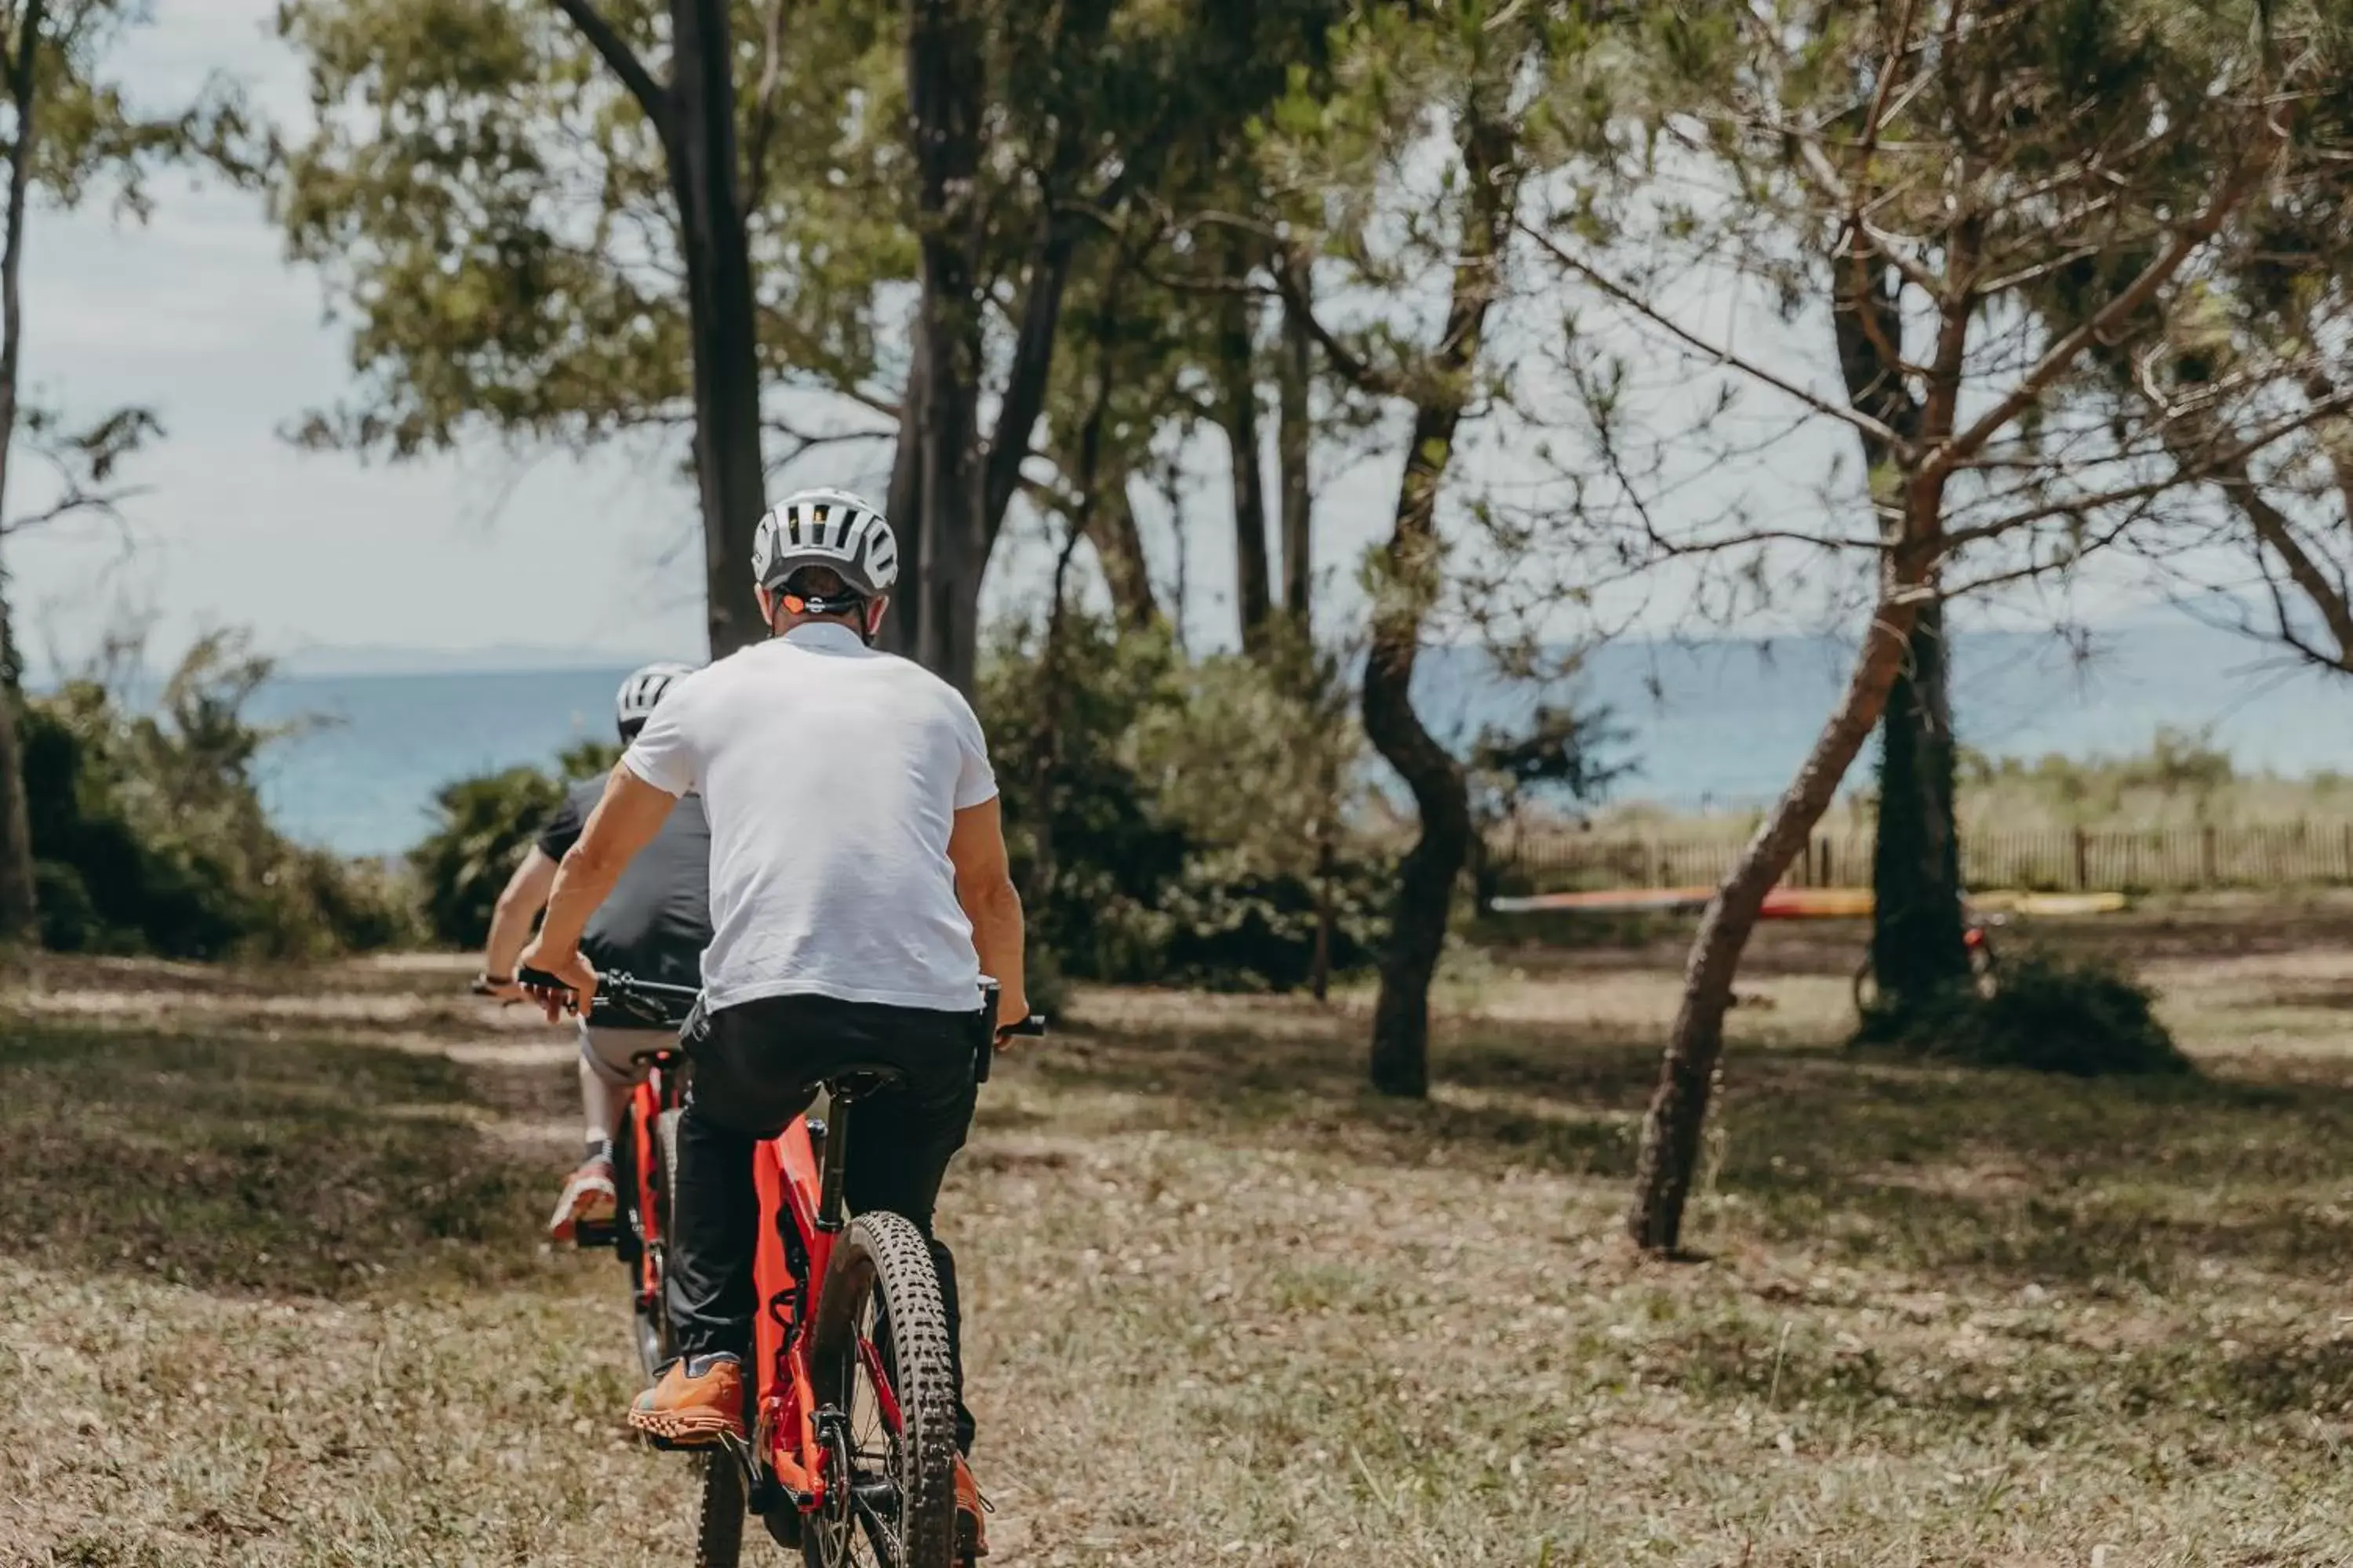
<svg viewBox="0 0 2353 1568">
<path fill-rule="evenodd" d="M 473 1098 L 407 1051 L 12 1023 L 0 1234 L 42 1267 L 212 1291 L 504 1276 L 534 1258 L 546 1171 Z"/>
</svg>

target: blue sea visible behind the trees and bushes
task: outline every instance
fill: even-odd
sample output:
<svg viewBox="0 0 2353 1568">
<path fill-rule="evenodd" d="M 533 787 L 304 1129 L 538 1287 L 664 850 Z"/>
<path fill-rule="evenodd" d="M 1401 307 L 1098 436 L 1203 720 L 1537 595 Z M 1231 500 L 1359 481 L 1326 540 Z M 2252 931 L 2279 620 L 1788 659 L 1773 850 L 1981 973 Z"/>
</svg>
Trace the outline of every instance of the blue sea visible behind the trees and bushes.
<svg viewBox="0 0 2353 1568">
<path fill-rule="evenodd" d="M 1617 799 L 1689 811 L 1769 802 L 1838 698 L 1847 644 L 1833 637 L 1612 642 L 1574 675 L 1504 677 L 1475 649 L 1433 649 L 1417 698 L 1433 731 L 1468 741 L 1539 703 L 1607 708 Z M 259 762 L 264 802 L 292 837 L 388 856 L 433 825 L 435 792 L 513 764 L 548 764 L 612 736 L 626 665 L 285 675 L 249 715 L 304 724 Z M 2160 729 L 2205 736 L 2242 771 L 2353 773 L 2353 677 L 2287 665 L 2261 644 L 2198 623 L 2125 625 L 2089 644 L 2047 632 L 1953 639 L 1962 745 L 1995 757 L 2141 752 Z M 1861 769 L 1857 769 L 1861 778 Z"/>
</svg>

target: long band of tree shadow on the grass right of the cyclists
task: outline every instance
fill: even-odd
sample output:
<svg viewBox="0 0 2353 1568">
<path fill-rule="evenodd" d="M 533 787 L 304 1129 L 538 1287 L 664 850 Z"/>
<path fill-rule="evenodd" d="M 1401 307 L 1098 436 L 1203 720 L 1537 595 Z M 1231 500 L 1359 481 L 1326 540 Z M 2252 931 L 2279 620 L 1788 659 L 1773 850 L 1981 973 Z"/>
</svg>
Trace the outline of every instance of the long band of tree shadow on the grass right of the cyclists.
<svg viewBox="0 0 2353 1568">
<path fill-rule="evenodd" d="M 1339 1159 L 1633 1175 L 1654 1039 L 1454 1025 L 1435 1095 L 1360 1079 L 1360 1023 L 1094 1030 L 1033 1067 L 1127 1098 L 1134 1126 Z M 2308 1074 L 2308 1065 L 2299 1067 Z M 1734 1222 L 1955 1284 L 2174 1293 L 2202 1267 L 2353 1272 L 2353 1081 L 2054 1079 L 1866 1058 L 1838 1046 L 1727 1058 Z"/>
</svg>

